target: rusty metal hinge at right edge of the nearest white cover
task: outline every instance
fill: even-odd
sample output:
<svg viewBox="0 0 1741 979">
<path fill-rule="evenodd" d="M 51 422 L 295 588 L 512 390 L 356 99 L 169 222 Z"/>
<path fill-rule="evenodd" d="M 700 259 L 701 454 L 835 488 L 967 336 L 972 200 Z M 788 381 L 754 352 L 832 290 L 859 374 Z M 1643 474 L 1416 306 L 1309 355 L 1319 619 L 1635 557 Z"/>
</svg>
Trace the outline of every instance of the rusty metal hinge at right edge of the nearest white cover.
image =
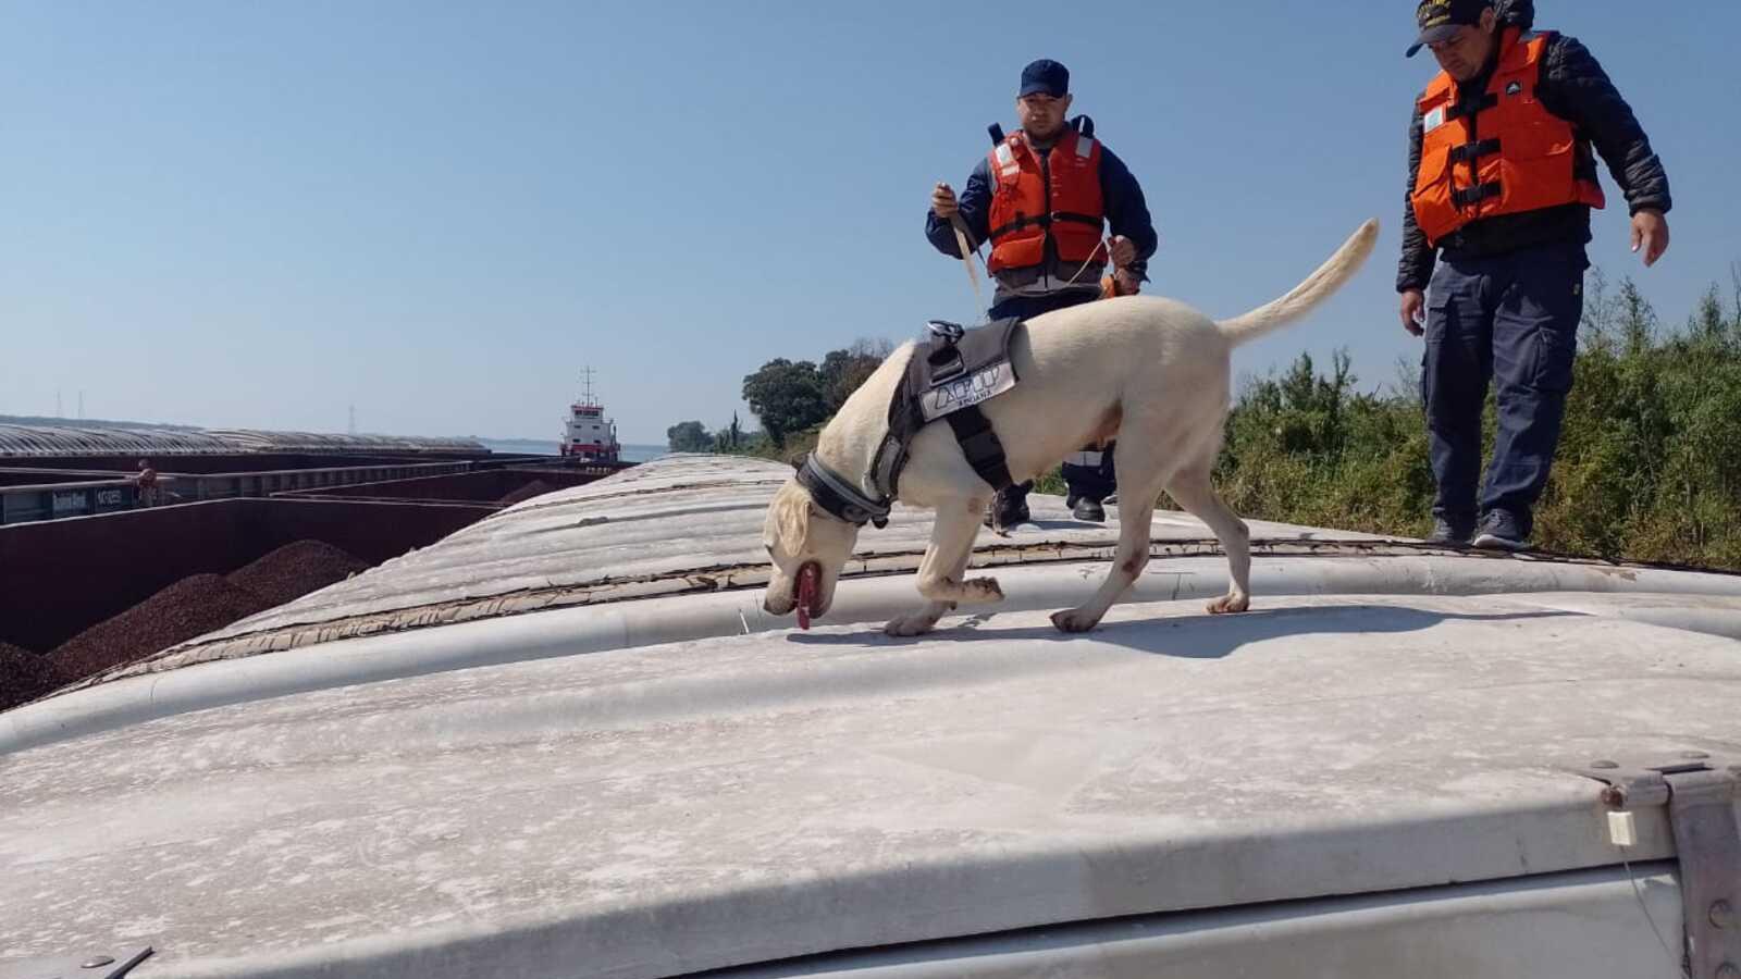
<svg viewBox="0 0 1741 979">
<path fill-rule="evenodd" d="M 1741 979 L 1741 763 L 1687 751 L 1668 765 L 1593 761 L 1584 775 L 1607 782 L 1616 843 L 1631 833 L 1631 812 L 1668 805 L 1680 862 L 1687 925 L 1685 969 L 1692 979 Z"/>
</svg>

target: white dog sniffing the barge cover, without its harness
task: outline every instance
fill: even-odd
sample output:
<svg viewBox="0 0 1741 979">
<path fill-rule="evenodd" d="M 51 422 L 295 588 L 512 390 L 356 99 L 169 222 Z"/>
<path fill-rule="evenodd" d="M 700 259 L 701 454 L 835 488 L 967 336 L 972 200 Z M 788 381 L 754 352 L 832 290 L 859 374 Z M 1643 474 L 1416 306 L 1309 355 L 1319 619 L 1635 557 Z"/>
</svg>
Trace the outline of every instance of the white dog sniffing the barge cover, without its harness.
<svg viewBox="0 0 1741 979">
<path fill-rule="evenodd" d="M 1137 580 L 1149 563 L 1149 524 L 1163 490 L 1208 524 L 1227 552 L 1233 587 L 1208 611 L 1250 608 L 1250 531 L 1210 486 L 1229 408 L 1229 354 L 1330 298 L 1360 270 L 1377 235 L 1377 221 L 1367 221 L 1292 293 L 1233 321 L 1213 322 L 1172 300 L 1130 296 L 1034 317 L 1025 334 L 1017 333 L 1012 359 L 1020 383 L 980 406 L 1015 481 L 1050 470 L 1085 444 L 1118 439 L 1121 531 L 1112 573 L 1086 604 L 1052 617 L 1059 629 L 1093 629 Z M 817 442 L 817 460 L 860 481 L 858 490 L 872 500 L 864 477 L 888 432 L 890 399 L 911 355 L 911 343 L 895 350 Z M 897 498 L 937 510 L 919 564 L 926 604 L 890 622 L 888 634 L 918 636 L 958 604 L 1003 599 L 994 578 L 965 578 L 992 495 L 949 425 L 931 423 L 914 437 Z M 827 613 L 857 540 L 858 526 L 823 512 L 796 479 L 782 486 L 763 531 L 773 557 L 763 606 L 787 615 L 803 594 L 808 615 Z"/>
</svg>

